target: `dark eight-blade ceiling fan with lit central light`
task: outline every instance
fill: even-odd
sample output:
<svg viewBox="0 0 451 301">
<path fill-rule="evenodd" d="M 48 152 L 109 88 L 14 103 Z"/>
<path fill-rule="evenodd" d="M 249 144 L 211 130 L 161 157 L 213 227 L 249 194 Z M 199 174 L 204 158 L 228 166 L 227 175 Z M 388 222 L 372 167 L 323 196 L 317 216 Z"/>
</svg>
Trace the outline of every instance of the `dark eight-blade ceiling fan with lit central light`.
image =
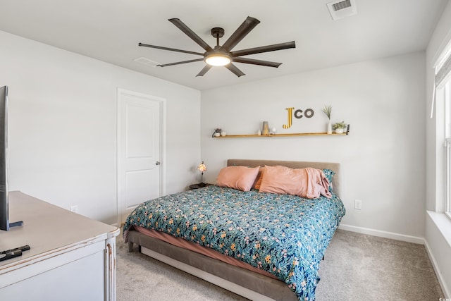
<svg viewBox="0 0 451 301">
<path fill-rule="evenodd" d="M 166 66 L 173 66 L 173 65 L 179 65 L 182 63 L 192 63 L 196 61 L 205 61 L 206 66 L 200 70 L 200 72 L 196 76 L 203 76 L 205 73 L 207 73 L 208 70 L 212 66 L 225 66 L 228 68 L 228 70 L 232 71 L 237 75 L 237 77 L 240 77 L 242 75 L 245 75 L 245 73 L 242 73 L 240 69 L 238 69 L 235 65 L 233 65 L 233 62 L 236 63 L 249 63 L 252 65 L 259 65 L 259 66 L 268 66 L 268 67 L 275 67 L 278 68 L 282 63 L 276 63 L 272 61 L 261 61 L 257 59 L 247 59 L 243 58 L 242 56 L 248 56 L 250 54 L 261 54 L 263 52 L 268 51 L 276 51 L 276 50 L 283 50 L 288 48 L 295 48 L 295 41 L 292 42 L 285 42 L 280 44 L 273 44 L 268 46 L 261 46 L 261 47 L 255 47 L 255 48 L 249 48 L 249 49 L 243 49 L 238 51 L 232 51 L 233 47 L 235 47 L 251 30 L 254 29 L 255 26 L 257 26 L 260 21 L 256 18 L 247 17 L 245 22 L 243 22 L 240 27 L 233 32 L 233 35 L 231 35 L 228 40 L 222 45 L 219 45 L 219 38 L 223 37 L 224 35 L 224 29 L 221 27 L 214 27 L 211 29 L 211 35 L 216 38 L 216 46 L 214 48 L 211 48 L 209 44 L 206 44 L 203 39 L 201 39 L 198 35 L 196 35 L 192 30 L 190 30 L 185 23 L 180 21 L 178 18 L 172 18 L 169 19 L 173 25 L 177 26 L 180 30 L 185 32 L 185 35 L 190 37 L 194 42 L 199 44 L 200 47 L 202 47 L 205 52 L 202 54 L 200 52 L 194 52 L 194 51 L 187 51 L 182 49 L 175 49 L 175 48 L 168 48 L 168 47 L 161 47 L 161 46 L 155 46 L 155 45 L 149 45 L 149 44 L 142 44 L 139 43 L 138 46 L 142 47 L 150 47 L 150 48 L 156 48 L 156 49 L 163 49 L 163 50 L 169 50 L 169 51 L 177 51 L 177 52 L 183 52 L 185 54 L 194 54 L 198 56 L 203 56 L 202 59 L 192 59 L 189 61 L 178 61 L 175 63 L 165 63 L 161 65 L 157 65 L 160 67 L 166 67 Z"/>
</svg>

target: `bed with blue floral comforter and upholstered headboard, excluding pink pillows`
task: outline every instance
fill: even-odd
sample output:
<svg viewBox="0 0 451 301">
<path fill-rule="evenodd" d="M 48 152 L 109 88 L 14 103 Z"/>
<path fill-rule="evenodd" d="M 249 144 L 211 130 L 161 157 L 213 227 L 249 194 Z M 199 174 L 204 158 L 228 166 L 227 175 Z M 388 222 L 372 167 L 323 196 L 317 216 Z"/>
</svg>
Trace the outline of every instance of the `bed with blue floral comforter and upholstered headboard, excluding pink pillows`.
<svg viewBox="0 0 451 301">
<path fill-rule="evenodd" d="M 340 164 L 229 159 L 227 166 L 317 168 L 314 199 L 209 185 L 140 204 L 125 222 L 140 252 L 251 300 L 314 300 L 326 247 L 345 215 Z M 299 169 L 296 169 L 299 170 Z"/>
</svg>

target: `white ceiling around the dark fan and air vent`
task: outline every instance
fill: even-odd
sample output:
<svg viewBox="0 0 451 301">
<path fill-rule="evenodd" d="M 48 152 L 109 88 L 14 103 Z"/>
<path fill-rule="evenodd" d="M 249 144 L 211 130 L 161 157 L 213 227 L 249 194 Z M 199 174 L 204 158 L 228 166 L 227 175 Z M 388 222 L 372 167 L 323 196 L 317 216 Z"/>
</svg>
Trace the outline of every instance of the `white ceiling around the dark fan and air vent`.
<svg viewBox="0 0 451 301">
<path fill-rule="evenodd" d="M 333 21 L 331 0 L 0 0 L 0 30 L 197 90 L 278 77 L 426 49 L 447 0 L 355 0 L 357 15 Z M 248 56 L 282 62 L 279 68 L 235 63 L 196 77 L 204 62 L 152 67 L 145 57 L 173 63 L 199 56 L 138 47 L 138 42 L 196 52 L 169 18 L 180 18 L 214 47 L 212 27 L 226 31 L 221 44 L 247 16 L 261 21 L 234 50 L 295 40 L 295 49 Z"/>
</svg>

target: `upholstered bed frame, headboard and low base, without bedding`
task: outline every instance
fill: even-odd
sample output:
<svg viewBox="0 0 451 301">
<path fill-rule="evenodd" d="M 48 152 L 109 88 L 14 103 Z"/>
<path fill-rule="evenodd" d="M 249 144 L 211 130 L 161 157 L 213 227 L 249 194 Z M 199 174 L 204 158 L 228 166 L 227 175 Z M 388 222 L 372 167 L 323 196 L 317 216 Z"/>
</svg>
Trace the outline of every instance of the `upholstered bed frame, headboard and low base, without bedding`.
<svg viewBox="0 0 451 301">
<path fill-rule="evenodd" d="M 338 163 L 247 159 L 229 159 L 227 161 L 227 166 L 254 167 L 265 165 L 283 165 L 290 168 L 329 168 L 335 171 L 332 181 L 333 191 L 336 195 L 340 195 L 340 164 Z M 154 259 L 202 278 L 221 288 L 230 290 L 233 293 L 247 297 L 250 300 L 298 300 L 295 293 L 278 279 L 247 271 L 237 266 L 231 266 L 225 262 L 176 247 L 156 238 L 150 238 L 130 229 L 128 232 L 129 252 L 132 252 L 134 244 L 138 245 L 138 249 L 142 254 L 147 254 Z"/>
</svg>

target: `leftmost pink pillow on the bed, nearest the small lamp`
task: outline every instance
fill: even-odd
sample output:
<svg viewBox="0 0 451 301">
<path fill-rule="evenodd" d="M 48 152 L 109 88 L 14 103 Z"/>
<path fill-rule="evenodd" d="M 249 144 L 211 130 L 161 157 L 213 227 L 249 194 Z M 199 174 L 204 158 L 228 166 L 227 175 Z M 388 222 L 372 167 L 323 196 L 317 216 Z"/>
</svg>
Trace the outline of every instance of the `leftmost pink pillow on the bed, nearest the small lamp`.
<svg viewBox="0 0 451 301">
<path fill-rule="evenodd" d="M 222 187 L 235 188 L 237 190 L 249 191 L 257 178 L 260 166 L 227 166 L 221 169 L 216 178 L 216 184 Z"/>
</svg>

